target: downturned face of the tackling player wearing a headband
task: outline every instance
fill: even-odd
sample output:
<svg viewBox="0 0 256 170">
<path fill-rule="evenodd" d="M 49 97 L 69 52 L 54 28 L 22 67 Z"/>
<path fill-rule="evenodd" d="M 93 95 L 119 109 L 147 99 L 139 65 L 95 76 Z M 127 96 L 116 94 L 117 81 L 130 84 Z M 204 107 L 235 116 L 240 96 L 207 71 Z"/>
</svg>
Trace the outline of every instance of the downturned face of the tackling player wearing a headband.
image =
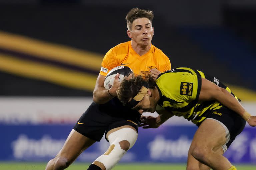
<svg viewBox="0 0 256 170">
<path fill-rule="evenodd" d="M 150 90 L 133 109 L 137 110 L 140 114 L 144 112 L 154 113 L 156 111 L 156 103 L 151 96 Z"/>
</svg>

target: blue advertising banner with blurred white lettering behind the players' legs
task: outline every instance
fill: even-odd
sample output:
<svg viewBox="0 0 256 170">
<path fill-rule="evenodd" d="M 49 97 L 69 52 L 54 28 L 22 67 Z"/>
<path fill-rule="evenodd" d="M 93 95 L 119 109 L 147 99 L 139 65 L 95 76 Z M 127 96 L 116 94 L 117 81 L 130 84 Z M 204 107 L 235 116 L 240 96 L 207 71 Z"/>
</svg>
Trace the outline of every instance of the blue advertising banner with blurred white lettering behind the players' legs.
<svg viewBox="0 0 256 170">
<path fill-rule="evenodd" d="M 72 125 L 0 125 L 0 161 L 48 161 L 62 148 Z M 196 126 L 161 126 L 139 129 L 133 148 L 121 162 L 184 163 Z M 109 143 L 104 136 L 77 159 L 92 162 L 103 154 Z M 233 163 L 256 163 L 256 130 L 246 127 L 231 144 L 225 156 Z"/>
</svg>

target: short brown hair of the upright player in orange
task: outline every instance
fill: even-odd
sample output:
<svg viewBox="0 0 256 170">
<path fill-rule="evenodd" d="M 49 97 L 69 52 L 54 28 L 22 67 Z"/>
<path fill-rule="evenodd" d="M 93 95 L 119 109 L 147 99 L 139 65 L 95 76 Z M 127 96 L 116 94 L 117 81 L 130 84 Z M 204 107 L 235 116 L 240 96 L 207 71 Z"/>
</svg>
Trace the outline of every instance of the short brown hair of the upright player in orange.
<svg viewBox="0 0 256 170">
<path fill-rule="evenodd" d="M 152 20 L 154 18 L 153 11 L 150 10 L 144 10 L 144 9 L 139 9 L 139 8 L 133 8 L 131 9 L 128 14 L 126 15 L 126 24 L 127 28 L 131 30 L 132 28 L 132 23 L 134 20 L 138 18 L 147 18 L 152 24 Z"/>
</svg>

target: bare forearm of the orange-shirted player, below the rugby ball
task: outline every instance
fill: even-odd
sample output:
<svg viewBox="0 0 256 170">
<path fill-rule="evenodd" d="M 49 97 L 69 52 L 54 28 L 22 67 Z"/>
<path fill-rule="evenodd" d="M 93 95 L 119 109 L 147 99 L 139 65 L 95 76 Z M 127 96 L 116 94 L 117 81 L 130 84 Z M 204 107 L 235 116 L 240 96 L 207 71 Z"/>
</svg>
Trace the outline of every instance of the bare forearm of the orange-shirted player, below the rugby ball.
<svg viewBox="0 0 256 170">
<path fill-rule="evenodd" d="M 93 101 L 97 104 L 104 104 L 111 100 L 114 96 L 111 95 L 109 90 L 106 90 L 104 87 L 98 87 L 93 91 Z"/>
</svg>

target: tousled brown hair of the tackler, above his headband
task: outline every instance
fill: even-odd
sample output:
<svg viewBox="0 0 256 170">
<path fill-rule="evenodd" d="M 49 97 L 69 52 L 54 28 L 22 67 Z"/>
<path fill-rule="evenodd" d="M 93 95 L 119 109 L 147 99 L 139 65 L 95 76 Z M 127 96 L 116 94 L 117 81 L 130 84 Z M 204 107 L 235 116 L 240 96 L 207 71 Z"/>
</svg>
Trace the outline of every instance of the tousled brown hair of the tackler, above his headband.
<svg viewBox="0 0 256 170">
<path fill-rule="evenodd" d="M 154 89 L 156 86 L 155 79 L 149 71 L 142 71 L 142 75 L 137 75 L 129 80 L 123 79 L 117 90 L 117 98 L 125 106 L 131 98 L 134 98 L 140 91 L 144 82 L 148 83 L 148 88 Z"/>
</svg>

